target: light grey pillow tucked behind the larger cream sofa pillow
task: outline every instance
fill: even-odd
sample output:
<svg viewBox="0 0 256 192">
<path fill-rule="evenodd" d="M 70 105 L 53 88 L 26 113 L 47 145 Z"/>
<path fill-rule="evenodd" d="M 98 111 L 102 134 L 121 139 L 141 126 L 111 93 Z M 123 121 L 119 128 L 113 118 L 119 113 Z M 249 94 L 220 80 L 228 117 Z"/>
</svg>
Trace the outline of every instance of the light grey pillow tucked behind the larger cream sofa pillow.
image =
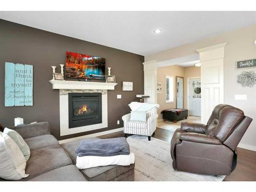
<svg viewBox="0 0 256 192">
<path fill-rule="evenodd" d="M 30 148 L 28 144 L 24 141 L 22 136 L 20 136 L 16 131 L 8 129 L 7 127 L 4 129 L 4 133 L 9 135 L 13 139 L 13 141 L 15 141 L 20 151 L 22 151 L 25 160 L 28 161 L 30 157 Z"/>
</svg>

